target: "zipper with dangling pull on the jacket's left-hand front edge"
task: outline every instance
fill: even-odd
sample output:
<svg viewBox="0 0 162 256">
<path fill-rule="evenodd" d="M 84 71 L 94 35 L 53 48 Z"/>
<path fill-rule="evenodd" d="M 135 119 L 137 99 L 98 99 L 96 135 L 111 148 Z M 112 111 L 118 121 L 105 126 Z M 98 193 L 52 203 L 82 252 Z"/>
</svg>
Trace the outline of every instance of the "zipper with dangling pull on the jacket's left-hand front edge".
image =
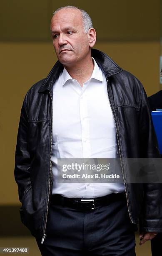
<svg viewBox="0 0 162 256">
<path fill-rule="evenodd" d="M 50 91 L 48 91 L 49 94 L 50 94 Z M 51 97 L 51 102 L 52 102 L 52 96 L 50 94 L 50 97 Z M 52 105 L 52 104 L 51 104 Z M 52 108 L 51 108 L 52 109 Z M 53 116 L 52 116 L 52 119 L 53 119 Z M 51 181 L 51 155 L 52 155 L 52 119 L 51 119 L 51 145 L 50 145 L 50 177 L 49 177 L 49 189 L 48 189 L 48 199 L 47 199 L 47 211 L 46 211 L 46 217 L 45 217 L 45 226 L 44 226 L 44 235 L 42 237 L 42 241 L 41 243 L 44 242 L 47 234 L 45 234 L 45 230 L 46 230 L 46 225 L 47 225 L 47 214 L 48 214 L 48 205 L 49 205 L 49 198 L 50 198 L 50 181 Z"/>
</svg>

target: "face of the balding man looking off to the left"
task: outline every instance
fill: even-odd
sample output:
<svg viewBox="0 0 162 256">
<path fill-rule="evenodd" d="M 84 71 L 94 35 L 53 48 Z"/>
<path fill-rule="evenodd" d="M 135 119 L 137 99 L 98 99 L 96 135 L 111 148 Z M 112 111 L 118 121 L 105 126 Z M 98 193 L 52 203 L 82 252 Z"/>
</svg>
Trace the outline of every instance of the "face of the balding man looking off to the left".
<svg viewBox="0 0 162 256">
<path fill-rule="evenodd" d="M 52 17 L 51 34 L 57 58 L 67 67 L 79 63 L 90 52 L 80 10 L 59 10 Z"/>
</svg>

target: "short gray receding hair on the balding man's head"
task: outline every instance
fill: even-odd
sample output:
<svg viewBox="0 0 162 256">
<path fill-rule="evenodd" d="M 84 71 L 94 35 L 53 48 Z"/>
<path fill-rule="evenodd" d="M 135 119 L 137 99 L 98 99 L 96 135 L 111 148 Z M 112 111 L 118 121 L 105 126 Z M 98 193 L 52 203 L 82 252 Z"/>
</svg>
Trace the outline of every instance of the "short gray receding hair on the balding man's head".
<svg viewBox="0 0 162 256">
<path fill-rule="evenodd" d="M 76 6 L 71 6 L 71 5 L 67 5 L 67 6 L 62 6 L 60 8 L 58 8 L 57 10 L 55 10 L 55 12 L 53 13 L 53 16 L 62 9 L 76 9 L 76 10 L 80 10 L 81 14 L 82 14 L 82 20 L 83 20 L 83 26 L 84 26 L 84 30 L 85 33 L 87 33 L 89 31 L 90 28 L 93 28 L 92 25 L 92 19 L 90 18 L 90 15 L 85 11 L 82 10 L 80 8 L 77 8 Z"/>
</svg>

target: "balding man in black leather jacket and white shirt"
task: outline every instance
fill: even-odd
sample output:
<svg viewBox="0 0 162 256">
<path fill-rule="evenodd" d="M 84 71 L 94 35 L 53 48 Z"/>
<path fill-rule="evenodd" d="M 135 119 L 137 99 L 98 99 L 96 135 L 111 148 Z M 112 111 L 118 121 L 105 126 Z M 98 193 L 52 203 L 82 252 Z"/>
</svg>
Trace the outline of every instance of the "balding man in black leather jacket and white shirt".
<svg viewBox="0 0 162 256">
<path fill-rule="evenodd" d="M 95 45 L 89 15 L 76 7 L 51 20 L 58 61 L 22 105 L 15 155 L 20 215 L 42 255 L 135 255 L 162 231 L 160 184 L 130 184 L 124 158 L 157 158 L 140 81 Z M 57 182 L 59 158 L 120 158 L 124 183 Z M 81 201 L 83 200 L 83 201 Z M 88 200 L 88 201 L 85 201 Z"/>
</svg>

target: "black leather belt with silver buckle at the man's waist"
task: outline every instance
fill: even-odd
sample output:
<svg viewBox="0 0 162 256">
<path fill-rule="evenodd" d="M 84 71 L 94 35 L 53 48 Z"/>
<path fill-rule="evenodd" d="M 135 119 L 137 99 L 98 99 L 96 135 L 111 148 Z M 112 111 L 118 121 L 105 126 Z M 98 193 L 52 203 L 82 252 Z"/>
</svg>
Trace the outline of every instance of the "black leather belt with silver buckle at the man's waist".
<svg viewBox="0 0 162 256">
<path fill-rule="evenodd" d="M 113 193 L 104 197 L 96 197 L 92 199 L 67 198 L 62 197 L 61 195 L 52 195 L 50 204 L 72 207 L 79 210 L 92 210 L 99 206 L 109 205 L 110 202 L 123 199 L 126 199 L 125 192 Z"/>
</svg>

